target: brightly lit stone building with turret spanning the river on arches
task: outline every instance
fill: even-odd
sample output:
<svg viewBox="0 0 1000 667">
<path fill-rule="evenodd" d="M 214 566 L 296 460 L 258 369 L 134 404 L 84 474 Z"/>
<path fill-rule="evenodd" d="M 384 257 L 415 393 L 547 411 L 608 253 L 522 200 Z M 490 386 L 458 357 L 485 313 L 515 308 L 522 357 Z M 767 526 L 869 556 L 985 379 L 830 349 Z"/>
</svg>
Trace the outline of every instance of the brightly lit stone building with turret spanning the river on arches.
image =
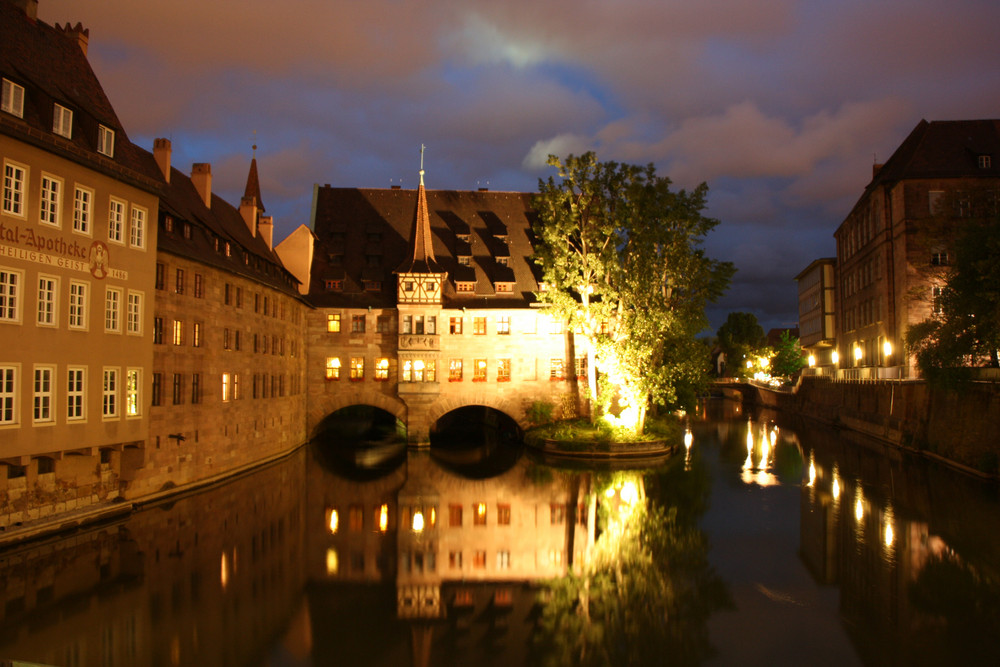
<svg viewBox="0 0 1000 667">
<path fill-rule="evenodd" d="M 463 406 L 574 414 L 579 338 L 538 306 L 529 193 L 317 187 L 307 430 L 356 404 L 411 443 Z M 580 361 L 577 361 L 579 359 Z"/>
</svg>

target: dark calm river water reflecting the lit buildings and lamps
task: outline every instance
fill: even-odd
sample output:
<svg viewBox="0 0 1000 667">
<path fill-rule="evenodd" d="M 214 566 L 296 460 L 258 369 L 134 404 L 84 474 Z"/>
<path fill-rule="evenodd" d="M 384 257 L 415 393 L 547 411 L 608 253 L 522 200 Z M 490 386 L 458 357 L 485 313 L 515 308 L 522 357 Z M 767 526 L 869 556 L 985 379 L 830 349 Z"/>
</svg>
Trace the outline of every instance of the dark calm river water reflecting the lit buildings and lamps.
<svg viewBox="0 0 1000 667">
<path fill-rule="evenodd" d="M 0 663 L 997 664 L 995 484 L 732 402 L 690 428 L 614 469 L 302 448 L 0 552 Z"/>
</svg>

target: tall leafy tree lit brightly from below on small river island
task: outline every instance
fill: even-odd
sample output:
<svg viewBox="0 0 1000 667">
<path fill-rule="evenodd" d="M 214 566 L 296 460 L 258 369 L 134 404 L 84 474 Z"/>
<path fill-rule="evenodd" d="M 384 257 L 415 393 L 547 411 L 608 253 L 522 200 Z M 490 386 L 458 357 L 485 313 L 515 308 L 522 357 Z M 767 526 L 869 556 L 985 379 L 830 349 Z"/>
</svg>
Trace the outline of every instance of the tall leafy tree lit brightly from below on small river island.
<svg viewBox="0 0 1000 667">
<path fill-rule="evenodd" d="M 674 192 L 651 164 L 598 162 L 594 153 L 549 164 L 559 180 L 539 181 L 535 198 L 538 298 L 589 339 L 590 395 L 600 370 L 630 408 L 623 425 L 641 432 L 651 402 L 677 404 L 707 376 L 695 335 L 734 271 L 701 248 L 718 224 L 703 215 L 708 187 Z"/>
</svg>

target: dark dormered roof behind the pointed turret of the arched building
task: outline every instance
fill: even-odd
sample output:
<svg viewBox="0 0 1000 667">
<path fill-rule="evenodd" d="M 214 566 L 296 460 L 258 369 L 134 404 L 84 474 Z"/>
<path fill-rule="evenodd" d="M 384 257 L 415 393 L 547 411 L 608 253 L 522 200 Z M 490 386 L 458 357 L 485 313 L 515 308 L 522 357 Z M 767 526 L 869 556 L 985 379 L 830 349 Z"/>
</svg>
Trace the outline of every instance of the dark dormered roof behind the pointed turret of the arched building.
<svg viewBox="0 0 1000 667">
<path fill-rule="evenodd" d="M 445 307 L 524 307 L 538 290 L 530 224 L 533 195 L 525 192 L 426 190 L 433 255 L 447 272 Z M 317 306 L 396 303 L 394 271 L 413 257 L 416 190 L 321 187 L 313 231 L 318 238 L 309 299 Z M 469 265 L 459 256 L 471 257 Z M 504 265 L 506 263 L 506 266 Z M 328 281 L 342 281 L 340 290 Z M 365 281 L 369 281 L 367 291 Z M 380 282 L 373 290 L 373 282 Z M 457 292 L 456 281 L 475 281 Z M 497 292 L 496 283 L 512 283 Z"/>
</svg>

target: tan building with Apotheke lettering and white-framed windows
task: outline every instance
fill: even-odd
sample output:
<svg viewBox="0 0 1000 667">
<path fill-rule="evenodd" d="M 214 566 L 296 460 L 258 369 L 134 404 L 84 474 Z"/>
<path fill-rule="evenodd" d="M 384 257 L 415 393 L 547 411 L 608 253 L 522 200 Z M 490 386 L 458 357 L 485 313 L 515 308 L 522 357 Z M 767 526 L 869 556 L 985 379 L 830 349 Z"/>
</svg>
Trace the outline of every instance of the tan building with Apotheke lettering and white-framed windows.
<svg viewBox="0 0 1000 667">
<path fill-rule="evenodd" d="M 149 430 L 162 179 L 36 9 L 0 2 L 0 529 L 116 498 Z"/>
</svg>

